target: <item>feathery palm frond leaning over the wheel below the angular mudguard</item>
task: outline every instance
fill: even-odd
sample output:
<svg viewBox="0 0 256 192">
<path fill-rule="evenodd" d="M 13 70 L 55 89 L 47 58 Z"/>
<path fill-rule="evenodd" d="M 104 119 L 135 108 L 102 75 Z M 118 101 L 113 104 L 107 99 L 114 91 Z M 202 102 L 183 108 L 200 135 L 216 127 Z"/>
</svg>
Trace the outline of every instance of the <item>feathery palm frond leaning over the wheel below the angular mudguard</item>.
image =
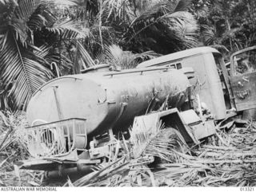
<svg viewBox="0 0 256 192">
<path fill-rule="evenodd" d="M 130 130 L 130 141 L 134 144 L 134 158 L 155 156 L 171 163 L 180 163 L 175 152 L 178 147 L 186 146 L 184 139 L 173 128 L 164 128 L 160 122 L 158 126 L 149 129 L 145 124 Z"/>
</svg>

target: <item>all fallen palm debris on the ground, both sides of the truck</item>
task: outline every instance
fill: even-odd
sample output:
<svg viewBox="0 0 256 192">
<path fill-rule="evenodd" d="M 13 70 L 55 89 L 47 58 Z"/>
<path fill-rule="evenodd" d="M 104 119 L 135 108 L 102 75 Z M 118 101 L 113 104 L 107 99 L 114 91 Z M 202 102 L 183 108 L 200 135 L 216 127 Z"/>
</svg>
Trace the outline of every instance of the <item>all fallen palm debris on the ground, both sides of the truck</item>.
<svg viewBox="0 0 256 192">
<path fill-rule="evenodd" d="M 2 133 L 6 131 L 4 129 Z M 175 133 L 174 130 L 171 132 Z M 4 135 L 1 134 L 0 143 Z M 68 178 L 66 183 L 49 182 L 47 186 L 256 185 L 254 122 L 238 119 L 222 121 L 216 126 L 214 135 L 192 147 L 186 146 L 177 134 L 170 134 L 172 137 L 166 135 L 162 125 L 150 136 L 143 130 L 134 131 L 134 137 L 139 138 L 135 144 L 135 159 L 130 159 L 127 153 L 112 163 L 94 167 L 92 173 L 76 181 Z M 18 170 L 15 165 L 15 159 L 25 158 L 14 150 L 18 141 L 8 137 L 8 144 L 0 151 L 0 186 L 45 186 L 42 171 Z M 22 150 L 26 151 L 25 148 Z"/>
</svg>

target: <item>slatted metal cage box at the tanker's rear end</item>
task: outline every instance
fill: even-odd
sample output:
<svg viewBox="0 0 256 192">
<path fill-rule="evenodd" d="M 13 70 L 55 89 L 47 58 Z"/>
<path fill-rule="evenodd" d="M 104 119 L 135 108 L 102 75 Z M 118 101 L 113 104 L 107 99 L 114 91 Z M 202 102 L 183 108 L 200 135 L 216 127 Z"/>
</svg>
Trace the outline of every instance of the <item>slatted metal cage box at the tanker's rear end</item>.
<svg viewBox="0 0 256 192">
<path fill-rule="evenodd" d="M 87 143 L 86 120 L 68 119 L 26 128 L 30 155 L 37 159 L 62 157 Z"/>
</svg>

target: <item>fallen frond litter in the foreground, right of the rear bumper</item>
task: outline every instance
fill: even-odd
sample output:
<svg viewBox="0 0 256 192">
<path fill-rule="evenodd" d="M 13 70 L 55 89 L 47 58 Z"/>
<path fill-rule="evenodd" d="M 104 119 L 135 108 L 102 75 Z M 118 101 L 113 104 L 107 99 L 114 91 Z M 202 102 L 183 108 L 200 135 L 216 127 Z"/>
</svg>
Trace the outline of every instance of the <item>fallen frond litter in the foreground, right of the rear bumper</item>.
<svg viewBox="0 0 256 192">
<path fill-rule="evenodd" d="M 65 186 L 255 186 L 256 127 L 218 129 L 190 149 L 175 152 L 173 163 L 134 163 L 119 159 Z"/>
</svg>

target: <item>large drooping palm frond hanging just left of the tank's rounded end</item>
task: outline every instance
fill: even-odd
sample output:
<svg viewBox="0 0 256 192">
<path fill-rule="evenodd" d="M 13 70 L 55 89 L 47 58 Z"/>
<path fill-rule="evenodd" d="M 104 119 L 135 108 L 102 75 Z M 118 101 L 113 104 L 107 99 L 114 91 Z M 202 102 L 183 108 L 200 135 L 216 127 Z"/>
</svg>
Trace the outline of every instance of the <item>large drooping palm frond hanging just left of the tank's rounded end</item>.
<svg viewBox="0 0 256 192">
<path fill-rule="evenodd" d="M 26 106 L 35 90 L 50 79 L 50 71 L 42 65 L 43 58 L 33 48 L 23 49 L 15 38 L 9 39 L 0 52 L 1 79 L 12 84 L 15 108 Z"/>
</svg>

